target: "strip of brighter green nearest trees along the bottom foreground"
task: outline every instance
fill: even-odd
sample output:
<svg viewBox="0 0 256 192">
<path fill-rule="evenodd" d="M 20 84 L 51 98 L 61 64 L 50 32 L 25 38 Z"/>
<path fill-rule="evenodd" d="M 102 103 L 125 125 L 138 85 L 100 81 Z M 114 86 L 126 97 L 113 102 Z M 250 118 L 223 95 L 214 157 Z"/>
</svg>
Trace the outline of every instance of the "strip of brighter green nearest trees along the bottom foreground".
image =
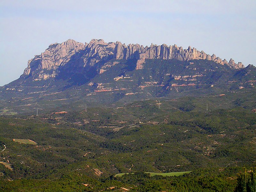
<svg viewBox="0 0 256 192">
<path fill-rule="evenodd" d="M 179 177 L 153 176 L 142 172 L 124 175 L 120 178 L 113 176 L 101 179 L 91 179 L 79 174 L 66 174 L 61 179 L 20 179 L 14 181 L 2 180 L 0 189 L 2 191 L 18 191 L 19 189 L 29 191 L 108 191 L 109 187 L 119 189 L 129 188 L 131 191 L 233 191 L 234 180 L 228 180 L 220 173 L 208 173 L 201 170 Z M 205 175 L 206 173 L 206 175 Z M 213 175 L 216 174 L 216 175 Z M 207 176 L 207 177 L 205 177 Z M 90 184 L 85 187 L 84 184 Z M 113 191 L 113 190 L 111 190 Z"/>
</svg>

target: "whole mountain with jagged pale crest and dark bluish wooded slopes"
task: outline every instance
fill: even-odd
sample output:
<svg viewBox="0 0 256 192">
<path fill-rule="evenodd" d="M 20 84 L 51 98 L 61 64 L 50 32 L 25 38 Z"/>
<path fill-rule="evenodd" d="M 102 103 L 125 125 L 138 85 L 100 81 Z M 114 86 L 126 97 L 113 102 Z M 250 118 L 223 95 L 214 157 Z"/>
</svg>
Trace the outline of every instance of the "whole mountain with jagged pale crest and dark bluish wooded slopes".
<svg viewBox="0 0 256 192">
<path fill-rule="evenodd" d="M 0 99 L 3 106 L 45 100 L 127 102 L 254 88 L 255 80 L 252 65 L 244 68 L 241 62 L 227 62 L 190 46 L 69 39 L 29 60 L 19 79 L 0 88 Z"/>
</svg>

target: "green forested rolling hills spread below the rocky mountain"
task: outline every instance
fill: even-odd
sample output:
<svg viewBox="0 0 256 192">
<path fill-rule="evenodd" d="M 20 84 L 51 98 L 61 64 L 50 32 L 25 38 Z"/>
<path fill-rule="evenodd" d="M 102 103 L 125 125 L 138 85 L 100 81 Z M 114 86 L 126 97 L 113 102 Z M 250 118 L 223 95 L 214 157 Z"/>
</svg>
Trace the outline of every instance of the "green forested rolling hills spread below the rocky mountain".
<svg viewBox="0 0 256 192">
<path fill-rule="evenodd" d="M 206 99 L 200 100 L 161 101 L 160 109 L 147 100 L 117 109 L 0 117 L 0 151 L 6 146 L 0 161 L 8 160 L 13 169 L 0 164 L 0 190 L 234 191 L 236 174 L 255 166 L 256 114 L 243 107 L 219 108 L 226 100 L 212 97 L 207 113 Z M 194 107 L 182 110 L 183 104 Z M 143 173 L 178 171 L 192 172 Z M 135 174 L 113 176 L 120 172 Z"/>
</svg>

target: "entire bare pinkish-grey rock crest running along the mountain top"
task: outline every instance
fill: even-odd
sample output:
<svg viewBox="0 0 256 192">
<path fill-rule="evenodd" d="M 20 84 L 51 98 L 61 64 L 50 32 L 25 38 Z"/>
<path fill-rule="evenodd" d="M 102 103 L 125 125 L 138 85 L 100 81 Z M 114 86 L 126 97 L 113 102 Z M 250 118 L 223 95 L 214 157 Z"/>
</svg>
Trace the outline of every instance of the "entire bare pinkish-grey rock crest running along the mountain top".
<svg viewBox="0 0 256 192">
<path fill-rule="evenodd" d="M 104 67 L 104 63 L 113 58 L 116 60 L 136 59 L 137 70 L 143 68 L 145 59 L 177 59 L 180 61 L 206 59 L 221 65 L 228 65 L 230 68 L 244 68 L 241 62 L 236 64 L 233 59 L 227 62 L 226 59 L 221 60 L 215 54 L 211 56 L 204 51 L 197 51 L 196 48 L 191 48 L 190 46 L 188 49 L 178 47 L 176 44 L 172 46 L 151 44 L 149 47 L 143 47 L 140 44 L 125 45 L 119 41 L 116 43 L 105 43 L 102 39 L 92 39 L 89 44 L 83 44 L 68 39 L 61 44 L 49 45 L 41 55 L 36 55 L 33 59 L 28 60 L 28 67 L 24 70 L 22 76 L 33 75 L 34 80 L 54 78 L 58 75 L 59 66 L 64 66 L 70 60 L 72 64 L 75 63 L 80 68 L 90 68 L 101 62 L 103 64 L 96 67 L 98 67 L 99 73 L 103 73 L 107 69 L 101 67 Z"/>
</svg>

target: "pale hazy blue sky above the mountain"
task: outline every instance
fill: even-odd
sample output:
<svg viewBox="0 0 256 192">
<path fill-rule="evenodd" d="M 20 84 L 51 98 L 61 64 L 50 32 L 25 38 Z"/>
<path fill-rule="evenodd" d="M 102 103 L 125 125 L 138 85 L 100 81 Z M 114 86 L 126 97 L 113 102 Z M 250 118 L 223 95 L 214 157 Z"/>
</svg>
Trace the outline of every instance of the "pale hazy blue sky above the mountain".
<svg viewBox="0 0 256 192">
<path fill-rule="evenodd" d="M 0 86 L 19 78 L 49 44 L 67 39 L 191 45 L 256 65 L 255 31 L 255 0 L 0 0 Z"/>
</svg>

